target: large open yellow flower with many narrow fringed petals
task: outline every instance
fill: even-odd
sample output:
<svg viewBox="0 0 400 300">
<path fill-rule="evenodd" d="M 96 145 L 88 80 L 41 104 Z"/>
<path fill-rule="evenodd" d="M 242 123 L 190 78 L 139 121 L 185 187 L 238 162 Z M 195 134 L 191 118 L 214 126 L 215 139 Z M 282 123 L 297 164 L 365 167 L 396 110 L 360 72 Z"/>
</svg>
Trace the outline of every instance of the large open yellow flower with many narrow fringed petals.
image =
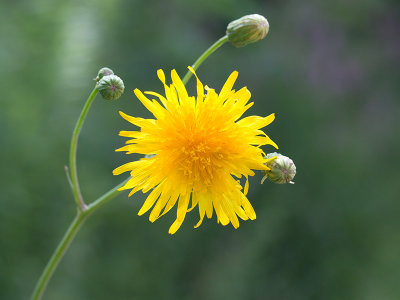
<svg viewBox="0 0 400 300">
<path fill-rule="evenodd" d="M 196 206 L 200 221 L 195 228 L 200 226 L 204 215 L 211 218 L 213 210 L 222 225 L 232 223 L 238 228 L 238 216 L 242 220 L 254 220 L 256 214 L 246 197 L 248 176 L 254 175 L 252 169 L 269 170 L 260 146 L 278 147 L 260 128 L 270 124 L 274 114 L 239 120 L 253 102 L 248 103 L 250 92 L 246 87 L 232 90 L 238 76 L 236 71 L 219 94 L 207 86 L 203 88 L 196 76 L 197 98 L 188 95 L 175 70 L 171 72 L 169 86 L 162 70 L 157 75 L 164 85 L 165 97 L 145 92 L 159 101 L 150 100 L 140 90 L 134 91 L 154 119 L 135 118 L 120 112 L 140 130 L 121 131 L 120 136 L 131 139 L 116 151 L 147 155 L 113 171 L 114 175 L 130 172 L 131 179 L 120 190 L 132 189 L 129 196 L 139 190 L 151 191 L 138 213 L 144 214 L 155 204 L 149 217 L 151 222 L 178 202 L 177 218 L 169 228 L 170 234 L 179 229 L 186 213 Z M 238 180 L 242 176 L 246 178 L 243 191 Z"/>
</svg>

